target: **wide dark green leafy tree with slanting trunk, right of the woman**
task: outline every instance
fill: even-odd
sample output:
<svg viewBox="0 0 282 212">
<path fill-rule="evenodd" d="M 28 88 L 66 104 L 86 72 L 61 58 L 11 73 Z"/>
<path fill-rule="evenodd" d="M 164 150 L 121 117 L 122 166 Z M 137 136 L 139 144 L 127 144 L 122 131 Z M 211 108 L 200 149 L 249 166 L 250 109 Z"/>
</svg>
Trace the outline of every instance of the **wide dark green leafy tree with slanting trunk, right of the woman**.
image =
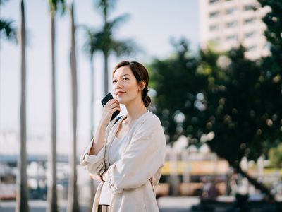
<svg viewBox="0 0 282 212">
<path fill-rule="evenodd" d="M 180 42 L 176 57 L 154 61 L 151 70 L 156 111 L 168 142 L 180 134 L 193 144 L 207 142 L 235 171 L 273 198 L 239 165 L 243 156 L 257 159 L 267 153 L 265 143 L 276 130 L 262 96 L 264 75 L 259 63 L 245 59 L 243 47 L 228 54 L 207 49 L 195 59 L 189 57 L 185 42 Z M 184 118 L 178 119 L 179 114 Z"/>
</svg>

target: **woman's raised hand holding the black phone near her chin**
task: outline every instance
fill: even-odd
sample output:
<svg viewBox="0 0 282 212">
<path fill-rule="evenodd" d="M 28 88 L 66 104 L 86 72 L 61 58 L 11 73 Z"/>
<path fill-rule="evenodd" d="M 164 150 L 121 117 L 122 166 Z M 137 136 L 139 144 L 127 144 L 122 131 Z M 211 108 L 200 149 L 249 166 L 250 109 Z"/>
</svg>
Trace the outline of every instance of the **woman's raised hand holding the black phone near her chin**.
<svg viewBox="0 0 282 212">
<path fill-rule="evenodd" d="M 102 118 L 100 123 L 104 125 L 108 125 L 111 121 L 111 116 L 115 111 L 121 111 L 121 107 L 119 105 L 118 100 L 111 99 L 106 102 L 106 105 L 103 108 Z"/>
</svg>

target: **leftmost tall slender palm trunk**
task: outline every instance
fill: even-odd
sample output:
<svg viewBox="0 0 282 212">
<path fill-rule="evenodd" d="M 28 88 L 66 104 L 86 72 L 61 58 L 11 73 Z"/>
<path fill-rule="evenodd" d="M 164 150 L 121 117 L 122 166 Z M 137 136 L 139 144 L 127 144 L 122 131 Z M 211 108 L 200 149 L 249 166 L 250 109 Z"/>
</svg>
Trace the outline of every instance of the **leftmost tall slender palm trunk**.
<svg viewBox="0 0 282 212">
<path fill-rule="evenodd" d="M 21 73 L 21 95 L 20 95 L 20 157 L 18 159 L 18 192 L 16 196 L 16 211 L 28 211 L 28 193 L 27 193 L 27 152 L 26 152 L 26 69 L 25 69 L 25 6 L 24 0 L 20 1 L 20 73 Z"/>
</svg>

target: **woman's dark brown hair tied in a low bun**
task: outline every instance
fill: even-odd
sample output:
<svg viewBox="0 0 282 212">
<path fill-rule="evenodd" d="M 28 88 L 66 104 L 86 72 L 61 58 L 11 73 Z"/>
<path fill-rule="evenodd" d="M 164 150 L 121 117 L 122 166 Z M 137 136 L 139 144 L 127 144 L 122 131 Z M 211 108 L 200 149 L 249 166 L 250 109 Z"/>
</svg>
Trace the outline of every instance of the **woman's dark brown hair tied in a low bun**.
<svg viewBox="0 0 282 212">
<path fill-rule="evenodd" d="M 148 107 L 151 103 L 151 98 L 148 96 L 148 85 L 149 85 L 149 74 L 145 66 L 138 63 L 137 61 L 121 61 L 119 64 L 116 65 L 113 71 L 116 72 L 116 69 L 121 68 L 122 66 L 129 66 L 131 71 L 133 72 L 133 75 L 135 76 L 137 83 L 140 83 L 141 81 L 145 81 L 146 85 L 145 88 L 142 90 L 142 101 L 144 102 L 145 107 Z"/>
</svg>

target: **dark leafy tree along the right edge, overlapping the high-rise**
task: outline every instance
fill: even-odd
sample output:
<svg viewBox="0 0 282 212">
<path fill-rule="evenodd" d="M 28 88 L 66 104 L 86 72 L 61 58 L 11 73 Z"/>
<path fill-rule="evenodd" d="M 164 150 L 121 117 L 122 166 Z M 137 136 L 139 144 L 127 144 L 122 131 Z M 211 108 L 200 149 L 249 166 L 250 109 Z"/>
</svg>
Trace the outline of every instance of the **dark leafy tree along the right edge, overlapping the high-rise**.
<svg viewBox="0 0 282 212">
<path fill-rule="evenodd" d="M 271 54 L 263 58 L 262 69 L 262 95 L 267 104 L 267 114 L 269 115 L 269 143 L 277 146 L 282 136 L 282 2 L 259 0 L 260 4 L 268 6 L 270 11 L 262 19 L 266 24 L 264 35 L 269 43 Z"/>
</svg>

